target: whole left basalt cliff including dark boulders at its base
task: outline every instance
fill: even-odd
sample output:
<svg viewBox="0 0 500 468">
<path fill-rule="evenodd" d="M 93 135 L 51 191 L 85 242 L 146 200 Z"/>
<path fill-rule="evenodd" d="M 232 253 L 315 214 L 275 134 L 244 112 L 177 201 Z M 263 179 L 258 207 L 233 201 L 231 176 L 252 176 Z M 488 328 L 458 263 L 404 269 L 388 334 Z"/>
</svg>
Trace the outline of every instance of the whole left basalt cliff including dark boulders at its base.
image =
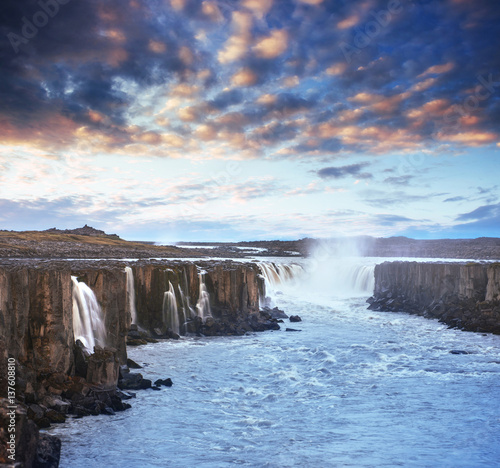
<svg viewBox="0 0 500 468">
<path fill-rule="evenodd" d="M 93 349 L 87 335 L 97 333 L 96 325 L 91 304 L 83 304 L 88 297 L 79 295 L 82 284 L 97 301 L 105 331 L 96 334 Z M 119 378 L 129 374 L 127 343 L 279 329 L 272 311 L 259 307 L 264 294 L 259 267 L 250 263 L 4 261 L 0 394 L 7 396 L 14 383 L 5 379 L 10 362 L 19 466 L 57 466 L 58 442 L 39 434 L 39 427 L 68 414 L 113 414 L 129 406 L 125 399 L 131 395 L 117 389 Z M 86 325 L 77 340 L 75 330 Z M 8 401 L 0 403 L 0 417 L 6 418 Z M 8 437 L 5 427 L 2 440 Z M 0 451 L 0 464 L 10 462 L 8 455 Z"/>
</svg>

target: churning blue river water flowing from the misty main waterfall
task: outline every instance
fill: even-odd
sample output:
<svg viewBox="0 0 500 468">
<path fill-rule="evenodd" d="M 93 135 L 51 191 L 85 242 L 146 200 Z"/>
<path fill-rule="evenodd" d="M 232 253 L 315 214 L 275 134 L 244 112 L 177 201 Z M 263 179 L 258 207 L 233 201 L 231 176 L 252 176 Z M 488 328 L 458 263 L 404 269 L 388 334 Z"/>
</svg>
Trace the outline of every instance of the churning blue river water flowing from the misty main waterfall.
<svg viewBox="0 0 500 468">
<path fill-rule="evenodd" d="M 280 331 L 129 348 L 174 385 L 51 428 L 60 466 L 499 466 L 500 336 L 368 311 L 372 283 L 337 271 L 275 285 L 303 320 Z"/>
</svg>

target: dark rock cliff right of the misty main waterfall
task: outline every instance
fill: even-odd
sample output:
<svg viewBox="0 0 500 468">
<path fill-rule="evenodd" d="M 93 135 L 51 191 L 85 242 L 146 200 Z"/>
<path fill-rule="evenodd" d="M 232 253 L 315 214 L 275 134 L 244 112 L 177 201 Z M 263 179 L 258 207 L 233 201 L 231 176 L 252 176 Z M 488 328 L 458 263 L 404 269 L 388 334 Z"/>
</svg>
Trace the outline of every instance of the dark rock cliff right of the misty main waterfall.
<svg viewBox="0 0 500 468">
<path fill-rule="evenodd" d="M 437 318 L 500 334 L 500 264 L 384 262 L 375 267 L 371 310 Z"/>
</svg>

